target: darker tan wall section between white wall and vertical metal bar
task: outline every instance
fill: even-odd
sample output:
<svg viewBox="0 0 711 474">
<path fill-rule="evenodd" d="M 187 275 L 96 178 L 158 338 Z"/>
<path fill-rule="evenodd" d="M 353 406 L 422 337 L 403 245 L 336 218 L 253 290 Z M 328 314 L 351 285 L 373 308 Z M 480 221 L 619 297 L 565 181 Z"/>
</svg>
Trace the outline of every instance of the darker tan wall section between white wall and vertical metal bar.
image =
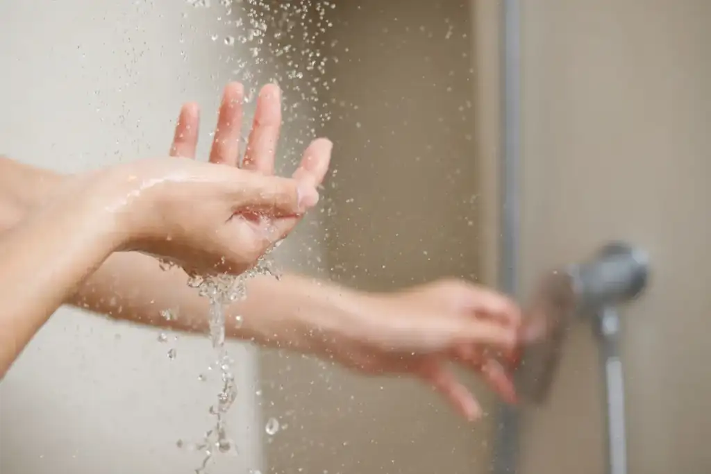
<svg viewBox="0 0 711 474">
<path fill-rule="evenodd" d="M 328 15 L 331 278 L 378 291 L 442 276 L 476 281 L 482 197 L 469 5 L 343 1 Z M 486 472 L 491 424 L 461 421 L 415 380 L 367 379 L 288 354 L 270 355 L 262 377 L 265 415 L 288 426 L 266 446 L 274 473 Z M 491 406 L 474 375 L 463 377 Z"/>
</svg>

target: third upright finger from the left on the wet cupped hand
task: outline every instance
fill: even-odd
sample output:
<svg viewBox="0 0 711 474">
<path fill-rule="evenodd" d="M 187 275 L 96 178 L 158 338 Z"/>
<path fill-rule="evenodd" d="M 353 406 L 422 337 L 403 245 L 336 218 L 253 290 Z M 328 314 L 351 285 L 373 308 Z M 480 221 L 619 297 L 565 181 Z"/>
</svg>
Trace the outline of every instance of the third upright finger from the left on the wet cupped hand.
<svg viewBox="0 0 711 474">
<path fill-rule="evenodd" d="M 274 157 L 281 126 L 282 92 L 275 84 L 265 85 L 257 99 L 257 112 L 242 168 L 268 175 L 274 173 Z"/>
</svg>

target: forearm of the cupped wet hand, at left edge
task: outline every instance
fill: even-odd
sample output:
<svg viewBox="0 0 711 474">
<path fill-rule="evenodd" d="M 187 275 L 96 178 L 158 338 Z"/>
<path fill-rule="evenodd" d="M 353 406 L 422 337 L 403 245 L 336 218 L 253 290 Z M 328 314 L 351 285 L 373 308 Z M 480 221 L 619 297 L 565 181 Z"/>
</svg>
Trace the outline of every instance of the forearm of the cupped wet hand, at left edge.
<svg viewBox="0 0 711 474">
<path fill-rule="evenodd" d="M 33 212 L 0 237 L 0 377 L 114 249 L 109 226 L 74 199 Z"/>
</svg>

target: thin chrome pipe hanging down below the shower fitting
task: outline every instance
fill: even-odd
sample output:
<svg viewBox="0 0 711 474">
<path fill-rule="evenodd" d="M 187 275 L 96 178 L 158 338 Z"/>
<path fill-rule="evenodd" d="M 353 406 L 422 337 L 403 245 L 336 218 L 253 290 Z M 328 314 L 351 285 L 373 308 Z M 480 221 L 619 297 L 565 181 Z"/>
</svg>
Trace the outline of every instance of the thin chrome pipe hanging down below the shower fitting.
<svg viewBox="0 0 711 474">
<path fill-rule="evenodd" d="M 624 409 L 624 372 L 619 353 L 619 313 L 613 306 L 597 315 L 600 363 L 604 373 L 607 424 L 607 473 L 627 473 L 627 438 Z"/>
</svg>

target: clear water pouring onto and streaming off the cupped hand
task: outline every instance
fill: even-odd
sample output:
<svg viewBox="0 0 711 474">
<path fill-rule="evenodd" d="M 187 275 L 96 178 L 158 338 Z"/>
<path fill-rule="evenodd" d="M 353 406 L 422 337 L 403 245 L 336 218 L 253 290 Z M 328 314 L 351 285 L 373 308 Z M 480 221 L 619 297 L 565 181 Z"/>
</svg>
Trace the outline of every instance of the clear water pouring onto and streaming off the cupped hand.
<svg viewBox="0 0 711 474">
<path fill-rule="evenodd" d="M 209 32 L 211 41 L 223 48 L 240 48 L 243 53 L 230 55 L 232 79 L 245 85 L 247 113 L 260 86 L 277 82 L 284 97 L 284 122 L 303 120 L 298 130 L 289 136 L 292 140 L 282 146 L 287 159 L 301 155 L 304 146 L 316 136 L 316 129 L 331 118 L 328 103 L 321 101 L 321 92 L 328 91 L 335 78 L 325 77 L 326 63 L 331 58 L 324 54 L 327 47 L 324 36 L 332 26 L 326 17 L 327 11 L 335 8 L 330 0 L 187 0 L 198 9 L 210 9 L 219 4 L 218 21 L 228 26 L 228 34 Z M 233 12 L 232 9 L 242 9 Z M 237 14 L 235 14 L 237 13 Z M 333 45 L 331 45 L 333 46 Z M 249 124 L 250 120 L 245 120 Z M 247 136 L 249 130 L 242 131 Z M 242 141 L 243 142 L 243 141 Z M 243 143 L 242 143 L 243 144 Z M 240 144 L 240 145 L 242 145 Z M 178 447 L 191 448 L 204 454 L 203 463 L 196 474 L 206 474 L 214 456 L 218 453 L 236 453 L 237 446 L 228 436 L 227 414 L 237 397 L 232 360 L 225 348 L 225 306 L 247 297 L 246 282 L 257 274 L 273 275 L 269 259 L 262 259 L 247 273 L 240 276 L 191 276 L 188 286 L 208 298 L 210 305 L 210 341 L 215 348 L 215 365 L 221 375 L 221 389 L 217 401 L 210 406 L 214 425 L 198 443 L 186 445 L 178 441 Z M 163 266 L 166 266 L 165 264 Z M 166 320 L 175 318 L 166 312 Z M 240 324 L 237 316 L 235 323 Z M 176 357 L 171 352 L 169 357 Z M 198 379 L 204 380 L 203 375 Z M 279 431 L 277 419 L 269 419 L 265 431 L 272 436 Z"/>
</svg>

